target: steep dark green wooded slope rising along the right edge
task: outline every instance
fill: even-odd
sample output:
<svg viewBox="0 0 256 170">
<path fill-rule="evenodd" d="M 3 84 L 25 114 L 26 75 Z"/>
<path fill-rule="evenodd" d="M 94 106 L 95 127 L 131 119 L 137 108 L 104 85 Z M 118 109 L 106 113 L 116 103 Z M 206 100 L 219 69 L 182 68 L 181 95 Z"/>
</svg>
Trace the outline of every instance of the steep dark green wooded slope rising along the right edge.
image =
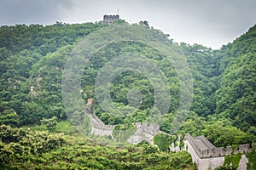
<svg viewBox="0 0 256 170">
<path fill-rule="evenodd" d="M 216 111 L 236 127 L 255 133 L 256 123 L 256 26 L 219 51 L 220 84 Z"/>
</svg>

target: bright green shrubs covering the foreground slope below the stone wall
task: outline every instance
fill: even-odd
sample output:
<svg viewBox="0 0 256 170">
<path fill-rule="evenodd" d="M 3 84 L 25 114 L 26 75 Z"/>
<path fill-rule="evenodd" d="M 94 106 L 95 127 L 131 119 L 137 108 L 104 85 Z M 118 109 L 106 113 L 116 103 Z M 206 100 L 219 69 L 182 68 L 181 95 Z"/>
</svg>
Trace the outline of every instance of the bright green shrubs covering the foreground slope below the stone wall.
<svg viewBox="0 0 256 170">
<path fill-rule="evenodd" d="M 146 143 L 96 144 L 75 133 L 69 122 L 59 123 L 57 133 L 4 125 L 0 130 L 1 169 L 195 169 L 188 152 L 167 154 Z"/>
</svg>

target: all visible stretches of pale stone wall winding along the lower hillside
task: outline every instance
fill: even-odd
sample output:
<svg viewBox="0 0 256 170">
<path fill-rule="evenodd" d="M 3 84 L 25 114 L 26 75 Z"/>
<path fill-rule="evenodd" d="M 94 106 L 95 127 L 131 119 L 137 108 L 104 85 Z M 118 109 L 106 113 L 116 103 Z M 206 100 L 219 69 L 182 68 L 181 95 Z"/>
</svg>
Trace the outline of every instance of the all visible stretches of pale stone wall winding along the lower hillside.
<svg viewBox="0 0 256 170">
<path fill-rule="evenodd" d="M 89 99 L 86 105 L 88 115 L 90 117 L 91 134 L 96 136 L 109 135 L 113 138 L 114 125 L 105 125 L 97 116 L 95 116 L 91 110 L 93 100 Z M 133 133 L 127 142 L 131 144 L 138 144 L 143 140 L 148 141 L 149 144 L 154 144 L 154 135 L 163 133 L 160 131 L 159 125 L 149 124 L 146 122 L 136 122 L 134 125 L 137 127 L 137 131 Z M 206 137 L 197 136 L 192 137 L 189 133 L 185 135 L 183 148 L 179 147 L 180 141 L 177 141 L 177 145 L 170 144 L 169 150 L 174 152 L 185 150 L 188 151 L 192 157 L 192 161 L 195 162 L 197 169 L 199 170 L 213 170 L 224 164 L 224 156 L 230 156 L 231 154 L 241 153 L 241 161 L 239 170 L 246 170 L 247 158 L 245 153 L 251 152 L 253 144 L 240 144 L 236 148 L 232 149 L 230 146 L 216 147 Z"/>
</svg>

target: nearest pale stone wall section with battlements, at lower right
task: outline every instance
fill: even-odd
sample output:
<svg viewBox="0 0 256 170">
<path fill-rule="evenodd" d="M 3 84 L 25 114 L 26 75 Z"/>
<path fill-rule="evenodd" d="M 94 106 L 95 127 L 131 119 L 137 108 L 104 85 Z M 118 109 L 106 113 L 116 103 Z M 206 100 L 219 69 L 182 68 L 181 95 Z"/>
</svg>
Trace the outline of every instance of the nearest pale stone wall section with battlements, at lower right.
<svg viewBox="0 0 256 170">
<path fill-rule="evenodd" d="M 206 137 L 192 137 L 189 133 L 184 138 L 184 148 L 189 152 L 192 161 L 199 170 L 215 169 L 224 164 L 224 156 L 241 153 L 241 161 L 238 169 L 246 170 L 247 158 L 245 153 L 251 152 L 253 145 L 240 144 L 236 148 L 216 147 Z M 184 149 L 183 149 L 184 150 Z"/>
</svg>

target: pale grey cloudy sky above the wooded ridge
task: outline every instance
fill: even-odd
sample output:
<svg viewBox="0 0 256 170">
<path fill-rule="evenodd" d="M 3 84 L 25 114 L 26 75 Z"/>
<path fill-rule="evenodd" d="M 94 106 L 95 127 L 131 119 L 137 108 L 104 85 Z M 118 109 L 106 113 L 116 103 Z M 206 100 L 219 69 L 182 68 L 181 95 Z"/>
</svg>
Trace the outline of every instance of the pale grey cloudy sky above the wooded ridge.
<svg viewBox="0 0 256 170">
<path fill-rule="evenodd" d="M 256 0 L 0 0 L 0 25 L 148 20 L 175 42 L 220 48 L 256 24 Z"/>
</svg>

